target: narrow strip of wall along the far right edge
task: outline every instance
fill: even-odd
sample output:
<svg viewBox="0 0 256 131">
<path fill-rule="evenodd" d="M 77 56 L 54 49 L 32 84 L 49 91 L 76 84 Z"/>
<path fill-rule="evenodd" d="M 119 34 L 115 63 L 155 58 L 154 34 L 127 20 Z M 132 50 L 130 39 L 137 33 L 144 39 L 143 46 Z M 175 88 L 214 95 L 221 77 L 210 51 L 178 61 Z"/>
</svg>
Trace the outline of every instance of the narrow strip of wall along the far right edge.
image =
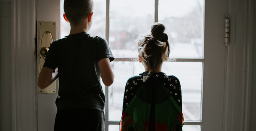
<svg viewBox="0 0 256 131">
<path fill-rule="evenodd" d="M 256 1 L 252 1 L 254 9 L 253 18 L 253 54 L 252 54 L 252 88 L 250 109 L 250 131 L 256 130 Z"/>
</svg>

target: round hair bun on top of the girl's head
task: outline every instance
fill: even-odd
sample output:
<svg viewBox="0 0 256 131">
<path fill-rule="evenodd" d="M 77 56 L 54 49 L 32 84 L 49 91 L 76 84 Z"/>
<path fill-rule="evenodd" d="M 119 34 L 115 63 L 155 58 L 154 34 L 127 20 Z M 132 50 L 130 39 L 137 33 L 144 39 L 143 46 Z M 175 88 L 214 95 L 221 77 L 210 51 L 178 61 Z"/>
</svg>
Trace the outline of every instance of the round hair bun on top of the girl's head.
<svg viewBox="0 0 256 131">
<path fill-rule="evenodd" d="M 153 36 L 153 38 L 161 42 L 168 41 L 168 35 L 164 33 L 164 31 L 165 31 L 165 25 L 161 23 L 155 23 L 154 25 L 151 26 L 151 35 Z"/>
</svg>

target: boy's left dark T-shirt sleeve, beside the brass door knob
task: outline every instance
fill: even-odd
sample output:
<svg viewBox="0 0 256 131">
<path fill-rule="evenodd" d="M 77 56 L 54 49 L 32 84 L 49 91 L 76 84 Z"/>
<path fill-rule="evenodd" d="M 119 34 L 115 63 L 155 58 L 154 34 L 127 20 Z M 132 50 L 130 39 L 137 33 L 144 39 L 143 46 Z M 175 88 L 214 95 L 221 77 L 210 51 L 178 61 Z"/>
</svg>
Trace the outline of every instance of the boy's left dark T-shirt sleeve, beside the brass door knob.
<svg viewBox="0 0 256 131">
<path fill-rule="evenodd" d="M 55 69 L 57 68 L 57 61 L 56 61 L 56 57 L 55 57 L 55 50 L 54 50 L 54 46 L 51 43 L 50 44 L 50 48 L 47 52 L 47 55 L 45 57 L 45 62 L 43 67 L 48 67 L 51 68 L 55 71 Z"/>
</svg>

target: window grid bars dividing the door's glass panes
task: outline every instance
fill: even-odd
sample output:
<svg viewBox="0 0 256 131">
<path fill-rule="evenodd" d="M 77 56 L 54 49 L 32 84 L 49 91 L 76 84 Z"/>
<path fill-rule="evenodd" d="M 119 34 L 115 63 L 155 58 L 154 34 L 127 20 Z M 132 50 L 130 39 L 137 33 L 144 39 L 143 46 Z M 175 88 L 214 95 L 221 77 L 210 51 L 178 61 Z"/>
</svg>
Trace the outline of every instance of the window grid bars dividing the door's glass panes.
<svg viewBox="0 0 256 131">
<path fill-rule="evenodd" d="M 158 22 L 158 4 L 159 0 L 155 0 L 155 13 L 154 13 L 154 22 Z M 106 40 L 109 43 L 109 13 L 110 12 L 110 0 L 106 0 Z M 133 58 L 115 58 L 114 61 L 132 61 Z M 176 59 L 177 62 L 204 62 L 204 59 L 197 58 L 181 58 Z M 202 82 L 203 83 L 203 82 Z M 201 97 L 202 104 L 202 97 Z M 202 106 L 201 106 L 202 110 Z M 202 115 L 201 115 L 202 117 Z M 202 121 L 202 119 L 201 119 Z M 185 121 L 184 125 L 202 125 L 201 121 Z M 109 87 L 105 86 L 105 131 L 109 130 L 109 125 L 119 125 L 120 121 L 109 120 Z"/>
</svg>

